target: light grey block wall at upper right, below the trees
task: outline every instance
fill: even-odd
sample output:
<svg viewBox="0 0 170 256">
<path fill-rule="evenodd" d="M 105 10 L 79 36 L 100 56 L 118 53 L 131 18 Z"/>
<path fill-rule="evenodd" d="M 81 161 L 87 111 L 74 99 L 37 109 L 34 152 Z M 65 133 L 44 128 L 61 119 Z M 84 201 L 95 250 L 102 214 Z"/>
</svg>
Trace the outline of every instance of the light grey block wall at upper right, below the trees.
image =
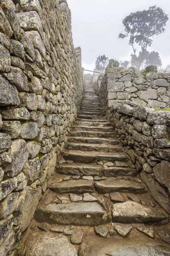
<svg viewBox="0 0 170 256">
<path fill-rule="evenodd" d="M 104 110 L 126 99 L 148 107 L 170 107 L 170 73 L 157 73 L 154 66 L 145 71 L 136 74 L 133 67 L 125 70 L 119 67 L 119 62 L 111 60 L 103 78 L 99 76 L 94 83 Z"/>
</svg>

